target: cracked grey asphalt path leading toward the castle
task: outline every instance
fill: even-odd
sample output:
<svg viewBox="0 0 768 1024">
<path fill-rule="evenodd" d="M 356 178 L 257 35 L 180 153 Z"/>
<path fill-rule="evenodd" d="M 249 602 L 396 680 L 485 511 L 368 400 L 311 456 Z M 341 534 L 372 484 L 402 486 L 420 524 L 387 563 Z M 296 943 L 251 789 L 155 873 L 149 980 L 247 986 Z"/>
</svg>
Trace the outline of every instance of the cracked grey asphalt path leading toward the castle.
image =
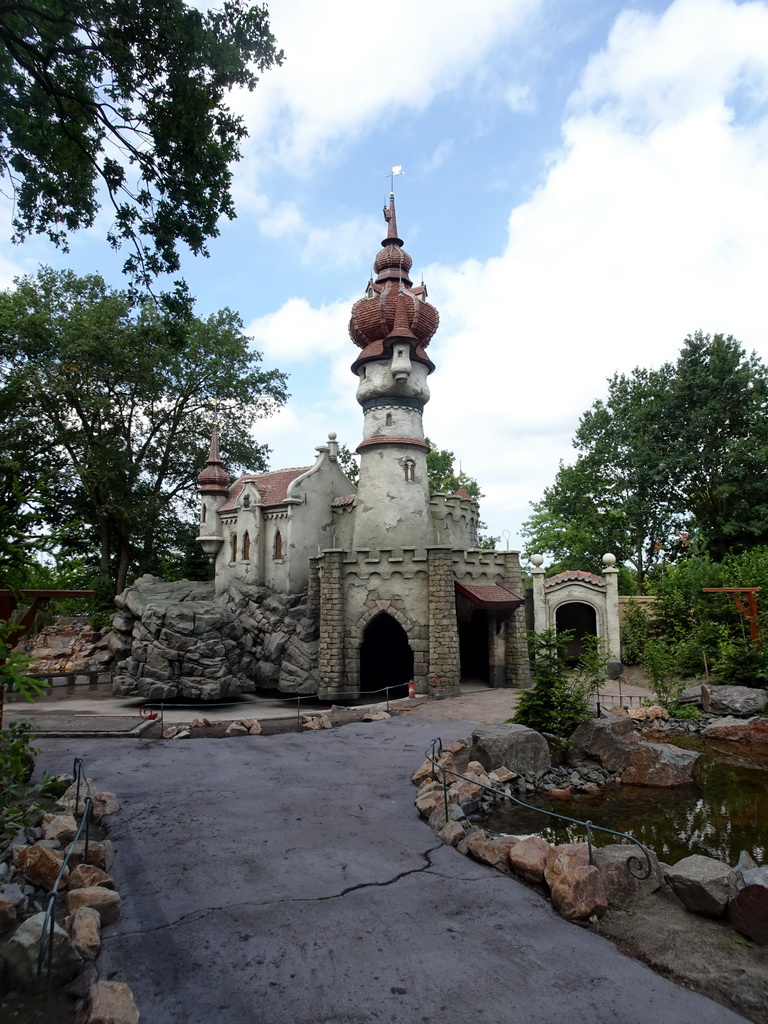
<svg viewBox="0 0 768 1024">
<path fill-rule="evenodd" d="M 439 843 L 410 776 L 472 728 L 40 740 L 122 803 L 101 977 L 147 1024 L 743 1024 Z"/>
</svg>

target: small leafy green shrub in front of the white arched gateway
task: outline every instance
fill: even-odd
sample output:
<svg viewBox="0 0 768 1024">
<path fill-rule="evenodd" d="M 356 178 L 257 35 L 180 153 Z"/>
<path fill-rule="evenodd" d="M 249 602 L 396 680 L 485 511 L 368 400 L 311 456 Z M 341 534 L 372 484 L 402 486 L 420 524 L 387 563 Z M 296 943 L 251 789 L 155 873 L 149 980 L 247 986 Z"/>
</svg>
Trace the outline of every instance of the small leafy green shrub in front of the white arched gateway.
<svg viewBox="0 0 768 1024">
<path fill-rule="evenodd" d="M 608 658 L 600 640 L 588 636 L 579 664 L 569 670 L 566 658 L 572 636 L 570 630 L 529 635 L 535 684 L 520 697 L 515 722 L 539 732 L 568 736 L 580 722 L 592 718 Z"/>
</svg>

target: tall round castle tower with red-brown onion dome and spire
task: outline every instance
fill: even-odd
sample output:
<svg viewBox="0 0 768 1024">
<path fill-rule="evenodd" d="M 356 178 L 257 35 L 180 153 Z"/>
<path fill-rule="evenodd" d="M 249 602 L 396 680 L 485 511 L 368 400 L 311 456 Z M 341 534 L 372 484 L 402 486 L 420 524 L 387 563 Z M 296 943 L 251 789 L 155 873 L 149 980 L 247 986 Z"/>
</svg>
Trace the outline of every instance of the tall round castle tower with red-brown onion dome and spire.
<svg viewBox="0 0 768 1024">
<path fill-rule="evenodd" d="M 422 284 L 410 278 L 413 260 L 397 237 L 394 193 L 384 208 L 387 236 L 376 257 L 376 280 L 352 306 L 349 335 L 359 355 L 352 364 L 362 407 L 357 445 L 353 547 L 428 547 L 435 543 L 422 413 L 429 401 L 427 377 L 434 364 L 426 348 L 439 316 Z"/>
</svg>

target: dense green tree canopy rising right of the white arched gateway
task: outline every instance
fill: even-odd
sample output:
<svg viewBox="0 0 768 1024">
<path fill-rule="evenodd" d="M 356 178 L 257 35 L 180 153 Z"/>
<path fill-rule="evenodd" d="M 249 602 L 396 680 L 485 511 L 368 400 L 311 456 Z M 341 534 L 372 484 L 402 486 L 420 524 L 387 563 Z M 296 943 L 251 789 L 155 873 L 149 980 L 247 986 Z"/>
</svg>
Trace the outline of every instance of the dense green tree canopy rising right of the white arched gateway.
<svg viewBox="0 0 768 1024">
<path fill-rule="evenodd" d="M 721 559 L 768 541 L 768 369 L 730 335 L 686 338 L 675 362 L 608 381 L 523 525 L 557 568 L 611 551 L 637 572 L 691 549 Z"/>
</svg>

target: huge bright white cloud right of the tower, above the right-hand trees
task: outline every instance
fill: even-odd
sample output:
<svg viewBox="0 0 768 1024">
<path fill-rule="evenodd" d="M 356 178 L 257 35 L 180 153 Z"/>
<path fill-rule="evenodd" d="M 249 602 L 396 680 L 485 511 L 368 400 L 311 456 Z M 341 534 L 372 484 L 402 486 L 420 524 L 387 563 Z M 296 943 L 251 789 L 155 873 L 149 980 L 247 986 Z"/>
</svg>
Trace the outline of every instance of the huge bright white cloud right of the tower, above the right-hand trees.
<svg viewBox="0 0 768 1024">
<path fill-rule="evenodd" d="M 622 15 L 503 256 L 426 271 L 443 312 L 429 431 L 484 486 L 492 531 L 572 457 L 613 372 L 674 358 L 697 328 L 768 356 L 768 120 L 729 106 L 767 81 L 762 3 Z"/>
</svg>

